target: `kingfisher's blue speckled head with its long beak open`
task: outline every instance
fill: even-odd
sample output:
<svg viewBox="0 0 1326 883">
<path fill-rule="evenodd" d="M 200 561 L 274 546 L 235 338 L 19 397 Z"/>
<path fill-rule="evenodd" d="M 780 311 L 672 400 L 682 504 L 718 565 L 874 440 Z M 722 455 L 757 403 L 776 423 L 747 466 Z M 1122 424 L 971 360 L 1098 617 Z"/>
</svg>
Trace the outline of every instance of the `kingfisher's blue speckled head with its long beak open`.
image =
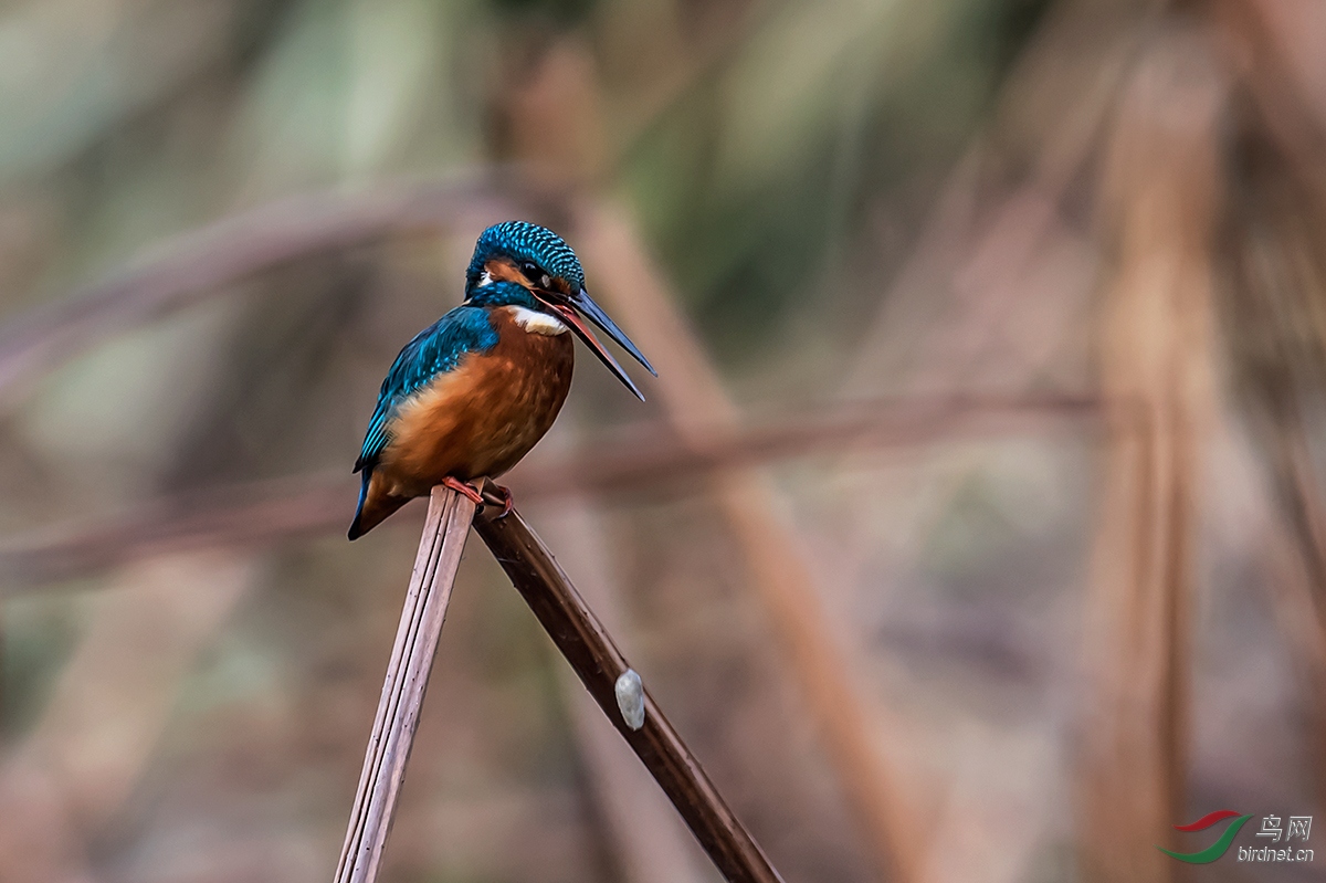
<svg viewBox="0 0 1326 883">
<path fill-rule="evenodd" d="M 644 396 L 613 354 L 594 337 L 589 320 L 658 377 L 644 354 L 585 290 L 585 270 L 566 241 L 538 224 L 505 221 L 479 236 L 465 272 L 465 301 L 514 304 L 565 322 L 631 392 Z"/>
</svg>

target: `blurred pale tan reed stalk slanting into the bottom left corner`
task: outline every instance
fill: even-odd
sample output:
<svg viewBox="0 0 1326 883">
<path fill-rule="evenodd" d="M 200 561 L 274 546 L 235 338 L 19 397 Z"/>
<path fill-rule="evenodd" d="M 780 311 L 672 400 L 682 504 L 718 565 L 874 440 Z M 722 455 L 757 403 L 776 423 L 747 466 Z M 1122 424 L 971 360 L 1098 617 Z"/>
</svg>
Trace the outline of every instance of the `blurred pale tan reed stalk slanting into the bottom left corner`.
<svg viewBox="0 0 1326 883">
<path fill-rule="evenodd" d="M 91 879 L 89 841 L 119 817 L 180 681 L 253 582 L 252 561 L 227 553 L 164 556 L 113 581 L 41 720 L 0 769 L 8 883 Z"/>
</svg>

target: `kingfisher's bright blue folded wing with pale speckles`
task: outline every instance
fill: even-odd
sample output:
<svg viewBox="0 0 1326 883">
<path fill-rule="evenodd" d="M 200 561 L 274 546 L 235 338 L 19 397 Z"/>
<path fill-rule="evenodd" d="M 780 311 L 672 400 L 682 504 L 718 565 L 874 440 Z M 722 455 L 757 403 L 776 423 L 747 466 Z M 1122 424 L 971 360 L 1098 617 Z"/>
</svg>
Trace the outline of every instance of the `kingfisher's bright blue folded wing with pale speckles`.
<svg viewBox="0 0 1326 883">
<path fill-rule="evenodd" d="M 432 378 L 455 370 L 467 353 L 487 353 L 496 345 L 497 330 L 488 321 L 488 312 L 477 306 L 457 306 L 415 334 L 382 382 L 378 407 L 369 420 L 369 432 L 354 471 L 371 469 L 378 461 L 378 455 L 391 440 L 387 427 L 402 402 Z"/>
</svg>

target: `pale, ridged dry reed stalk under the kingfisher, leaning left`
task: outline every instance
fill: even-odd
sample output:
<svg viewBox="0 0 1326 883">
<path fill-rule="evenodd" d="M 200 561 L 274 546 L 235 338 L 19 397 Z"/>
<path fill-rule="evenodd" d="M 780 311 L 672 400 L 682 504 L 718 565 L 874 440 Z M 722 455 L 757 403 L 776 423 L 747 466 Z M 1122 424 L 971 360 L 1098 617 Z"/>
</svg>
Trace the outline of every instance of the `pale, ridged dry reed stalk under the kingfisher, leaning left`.
<svg viewBox="0 0 1326 883">
<path fill-rule="evenodd" d="M 371 883 L 378 876 L 404 781 L 432 658 L 442 636 L 447 602 L 465 548 L 475 504 L 450 488 L 428 497 L 419 554 L 406 591 L 396 643 L 391 648 L 382 699 L 363 757 L 359 789 L 337 864 L 337 883 Z"/>
</svg>

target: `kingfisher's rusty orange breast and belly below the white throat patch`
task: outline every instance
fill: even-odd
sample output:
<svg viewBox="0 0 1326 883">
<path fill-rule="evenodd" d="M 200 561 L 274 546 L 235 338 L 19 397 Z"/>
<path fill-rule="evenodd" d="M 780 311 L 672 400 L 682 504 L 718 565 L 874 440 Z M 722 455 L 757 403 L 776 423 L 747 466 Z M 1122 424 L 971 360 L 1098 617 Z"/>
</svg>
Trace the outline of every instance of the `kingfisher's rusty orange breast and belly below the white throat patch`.
<svg viewBox="0 0 1326 883">
<path fill-rule="evenodd" d="M 526 331 L 507 309 L 492 321 L 492 350 L 467 355 L 400 407 L 378 464 L 390 493 L 422 496 L 447 476 L 496 477 L 557 419 L 572 386 L 572 335 Z"/>
</svg>

